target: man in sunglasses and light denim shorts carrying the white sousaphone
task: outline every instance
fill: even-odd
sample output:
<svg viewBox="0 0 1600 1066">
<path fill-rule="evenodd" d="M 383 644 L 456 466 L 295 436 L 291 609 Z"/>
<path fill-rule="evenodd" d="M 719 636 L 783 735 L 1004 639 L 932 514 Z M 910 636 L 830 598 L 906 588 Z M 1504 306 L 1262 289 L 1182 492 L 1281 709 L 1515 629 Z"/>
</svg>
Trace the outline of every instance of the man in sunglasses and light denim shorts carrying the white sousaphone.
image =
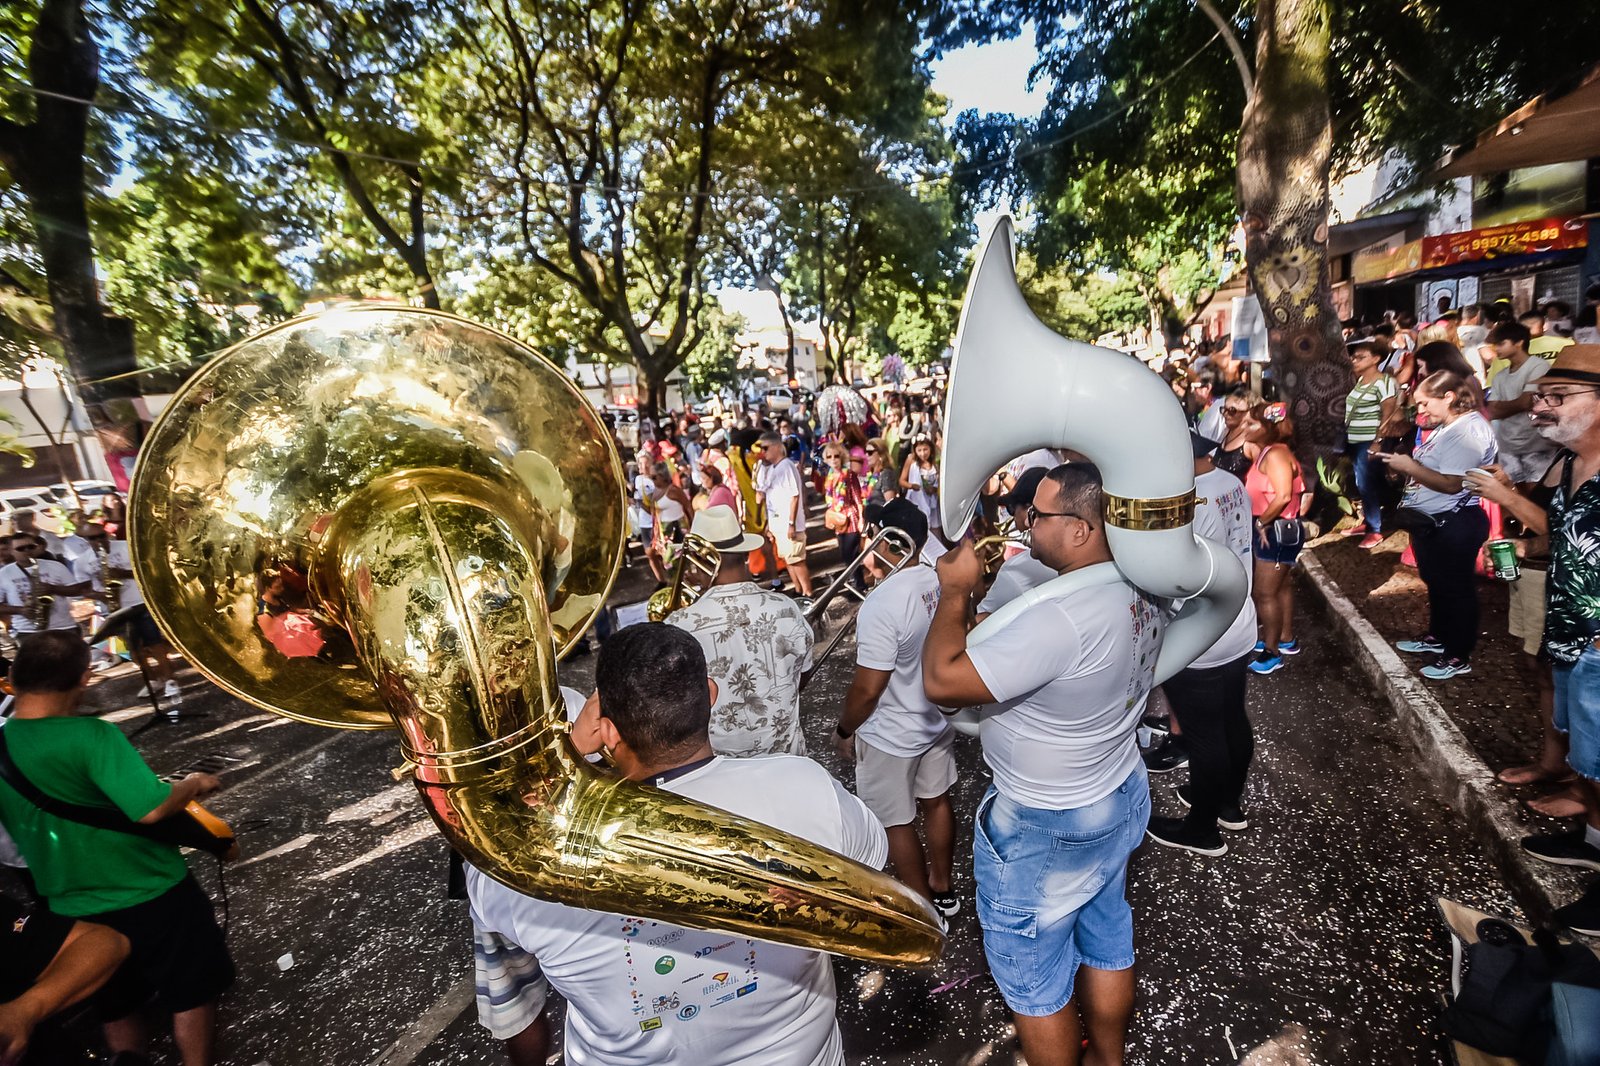
<svg viewBox="0 0 1600 1066">
<path fill-rule="evenodd" d="M 1058 1048 L 1082 1032 L 1099 1060 L 1120 1061 L 1133 1015 L 1123 885 L 1150 816 L 1134 727 L 1166 618 L 1117 571 L 1104 506 L 1093 464 L 1054 467 L 1034 496 L 1030 551 L 1083 586 L 968 648 L 965 607 L 982 565 L 963 543 L 939 560 L 923 645 L 930 699 L 998 704 L 979 733 L 994 786 L 978 805 L 973 872 L 989 970 L 1030 1061 L 1062 1061 Z"/>
</svg>

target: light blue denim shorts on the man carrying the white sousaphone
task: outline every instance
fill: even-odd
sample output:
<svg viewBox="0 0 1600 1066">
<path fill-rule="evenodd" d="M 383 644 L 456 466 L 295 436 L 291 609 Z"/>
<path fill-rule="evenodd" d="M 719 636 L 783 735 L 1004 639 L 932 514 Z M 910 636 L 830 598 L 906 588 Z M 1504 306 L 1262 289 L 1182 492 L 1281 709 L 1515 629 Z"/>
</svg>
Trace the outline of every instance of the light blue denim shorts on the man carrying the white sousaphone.
<svg viewBox="0 0 1600 1066">
<path fill-rule="evenodd" d="M 989 972 L 1019 1015 L 1053 1015 L 1072 999 L 1078 965 L 1133 965 L 1128 856 L 1150 820 L 1138 767 L 1104 799 L 1075 810 L 1022 807 L 995 792 L 978 804 L 973 874 Z"/>
</svg>

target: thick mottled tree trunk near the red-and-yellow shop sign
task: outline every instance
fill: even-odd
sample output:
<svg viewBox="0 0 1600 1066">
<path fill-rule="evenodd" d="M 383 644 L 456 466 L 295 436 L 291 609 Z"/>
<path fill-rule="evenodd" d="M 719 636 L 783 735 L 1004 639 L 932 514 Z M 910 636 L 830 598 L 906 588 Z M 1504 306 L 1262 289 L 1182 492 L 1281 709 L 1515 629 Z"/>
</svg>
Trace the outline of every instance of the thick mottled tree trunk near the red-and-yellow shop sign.
<svg viewBox="0 0 1600 1066">
<path fill-rule="evenodd" d="M 1238 138 L 1245 266 L 1302 458 L 1344 442 L 1350 360 L 1328 285 L 1330 0 L 1259 0 Z"/>
</svg>

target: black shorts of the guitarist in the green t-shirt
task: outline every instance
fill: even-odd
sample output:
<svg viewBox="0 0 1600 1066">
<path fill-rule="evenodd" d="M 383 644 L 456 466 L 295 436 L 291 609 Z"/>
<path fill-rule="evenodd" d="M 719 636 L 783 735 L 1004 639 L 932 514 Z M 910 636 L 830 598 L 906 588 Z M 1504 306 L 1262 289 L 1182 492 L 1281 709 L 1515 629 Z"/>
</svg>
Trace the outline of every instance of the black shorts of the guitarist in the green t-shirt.
<svg viewBox="0 0 1600 1066">
<path fill-rule="evenodd" d="M 128 938 L 131 951 L 94 997 L 106 1021 L 126 1018 L 147 1004 L 182 1013 L 216 1000 L 234 983 L 234 959 L 194 876 L 146 903 L 85 916 Z"/>
</svg>

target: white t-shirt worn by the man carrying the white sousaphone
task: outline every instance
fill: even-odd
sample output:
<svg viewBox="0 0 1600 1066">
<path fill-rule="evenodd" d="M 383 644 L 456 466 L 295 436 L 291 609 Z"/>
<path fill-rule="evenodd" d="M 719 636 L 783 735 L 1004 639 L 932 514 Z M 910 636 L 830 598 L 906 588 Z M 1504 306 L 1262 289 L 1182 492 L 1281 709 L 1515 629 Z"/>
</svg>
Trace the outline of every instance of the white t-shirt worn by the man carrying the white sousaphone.
<svg viewBox="0 0 1600 1066">
<path fill-rule="evenodd" d="M 1109 795 L 1141 765 L 1134 727 L 1165 627 L 1154 599 L 1117 581 L 1035 603 L 968 648 L 997 703 L 979 736 L 1002 795 L 1074 810 Z"/>
</svg>

